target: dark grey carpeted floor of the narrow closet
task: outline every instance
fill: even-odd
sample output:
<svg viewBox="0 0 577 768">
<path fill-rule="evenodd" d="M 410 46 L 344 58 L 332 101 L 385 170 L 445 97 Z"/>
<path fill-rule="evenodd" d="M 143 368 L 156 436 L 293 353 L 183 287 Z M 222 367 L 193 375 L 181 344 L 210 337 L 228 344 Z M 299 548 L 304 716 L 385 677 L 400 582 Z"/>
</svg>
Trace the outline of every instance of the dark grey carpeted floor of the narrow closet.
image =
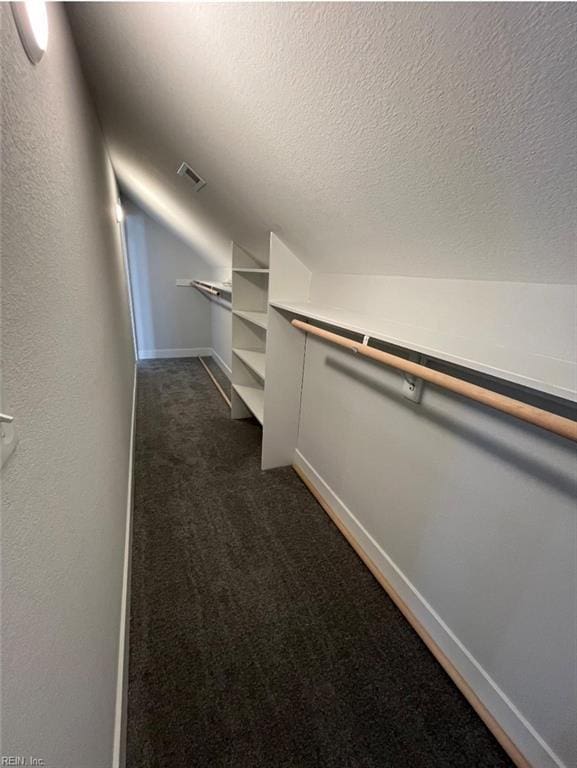
<svg viewBox="0 0 577 768">
<path fill-rule="evenodd" d="M 511 766 L 200 363 L 138 376 L 128 768 Z"/>
</svg>

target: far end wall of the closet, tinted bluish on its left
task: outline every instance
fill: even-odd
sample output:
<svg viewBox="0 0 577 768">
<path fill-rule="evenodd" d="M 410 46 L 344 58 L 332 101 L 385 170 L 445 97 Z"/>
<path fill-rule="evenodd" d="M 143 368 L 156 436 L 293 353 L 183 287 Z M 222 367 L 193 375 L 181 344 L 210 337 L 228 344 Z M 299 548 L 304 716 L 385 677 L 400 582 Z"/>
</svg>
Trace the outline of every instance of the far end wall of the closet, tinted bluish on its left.
<svg viewBox="0 0 577 768">
<path fill-rule="evenodd" d="M 139 357 L 208 354 L 210 302 L 176 280 L 209 279 L 214 267 L 134 203 L 124 210 Z"/>
</svg>

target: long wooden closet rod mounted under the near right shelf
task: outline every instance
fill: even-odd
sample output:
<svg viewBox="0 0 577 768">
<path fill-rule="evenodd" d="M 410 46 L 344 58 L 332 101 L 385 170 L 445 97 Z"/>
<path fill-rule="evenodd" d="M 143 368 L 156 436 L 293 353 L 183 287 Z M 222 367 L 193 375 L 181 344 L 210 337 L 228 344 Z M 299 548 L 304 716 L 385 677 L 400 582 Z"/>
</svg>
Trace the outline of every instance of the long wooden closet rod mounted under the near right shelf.
<svg viewBox="0 0 577 768">
<path fill-rule="evenodd" d="M 564 416 L 557 416 L 550 411 L 536 408 L 533 405 L 527 405 L 520 400 L 500 395 L 484 387 L 478 387 L 476 384 L 470 384 L 468 381 L 457 379 L 446 373 L 434 371 L 424 365 L 412 363 L 410 360 L 398 357 L 398 355 L 382 352 L 380 349 L 347 339 L 345 336 L 339 336 L 337 333 L 325 331 L 322 328 L 317 328 L 315 325 L 310 325 L 310 323 L 304 323 L 302 320 L 293 320 L 292 324 L 301 331 L 312 333 L 314 336 L 330 341 L 332 344 L 350 349 L 351 352 L 364 355 L 364 357 L 369 357 L 371 360 L 376 360 L 378 363 L 383 363 L 383 365 L 388 365 L 391 368 L 397 368 L 397 370 L 408 373 L 411 376 L 416 376 L 419 379 L 423 379 L 423 381 L 428 381 L 443 389 L 456 392 L 458 395 L 468 397 L 470 400 L 476 400 L 478 403 L 488 405 L 489 408 L 495 408 L 497 411 L 508 413 L 517 419 L 527 421 L 529 424 L 535 424 L 535 426 L 541 427 L 541 429 L 546 429 L 548 432 L 553 432 L 556 435 L 561 435 L 561 437 L 577 442 L 577 421 L 566 419 Z"/>
</svg>

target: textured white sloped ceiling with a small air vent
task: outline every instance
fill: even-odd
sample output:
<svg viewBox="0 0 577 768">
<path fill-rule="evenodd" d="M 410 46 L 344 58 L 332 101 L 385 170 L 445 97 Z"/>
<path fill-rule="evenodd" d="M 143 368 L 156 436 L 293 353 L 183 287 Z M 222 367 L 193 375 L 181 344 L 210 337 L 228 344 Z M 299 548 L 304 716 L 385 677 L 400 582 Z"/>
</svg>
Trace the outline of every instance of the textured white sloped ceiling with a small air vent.
<svg viewBox="0 0 577 768">
<path fill-rule="evenodd" d="M 121 183 L 215 259 L 575 280 L 574 6 L 68 7 Z"/>
</svg>

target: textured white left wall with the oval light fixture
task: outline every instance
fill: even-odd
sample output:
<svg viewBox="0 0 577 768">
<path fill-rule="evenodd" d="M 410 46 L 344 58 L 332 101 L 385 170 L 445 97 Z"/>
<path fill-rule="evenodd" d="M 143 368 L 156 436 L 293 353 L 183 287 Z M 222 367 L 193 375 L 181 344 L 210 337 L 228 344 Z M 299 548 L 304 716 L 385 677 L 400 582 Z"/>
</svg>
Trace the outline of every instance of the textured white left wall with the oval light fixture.
<svg viewBox="0 0 577 768">
<path fill-rule="evenodd" d="M 2 23 L 2 754 L 112 762 L 133 351 L 115 185 L 60 4 Z"/>
</svg>

